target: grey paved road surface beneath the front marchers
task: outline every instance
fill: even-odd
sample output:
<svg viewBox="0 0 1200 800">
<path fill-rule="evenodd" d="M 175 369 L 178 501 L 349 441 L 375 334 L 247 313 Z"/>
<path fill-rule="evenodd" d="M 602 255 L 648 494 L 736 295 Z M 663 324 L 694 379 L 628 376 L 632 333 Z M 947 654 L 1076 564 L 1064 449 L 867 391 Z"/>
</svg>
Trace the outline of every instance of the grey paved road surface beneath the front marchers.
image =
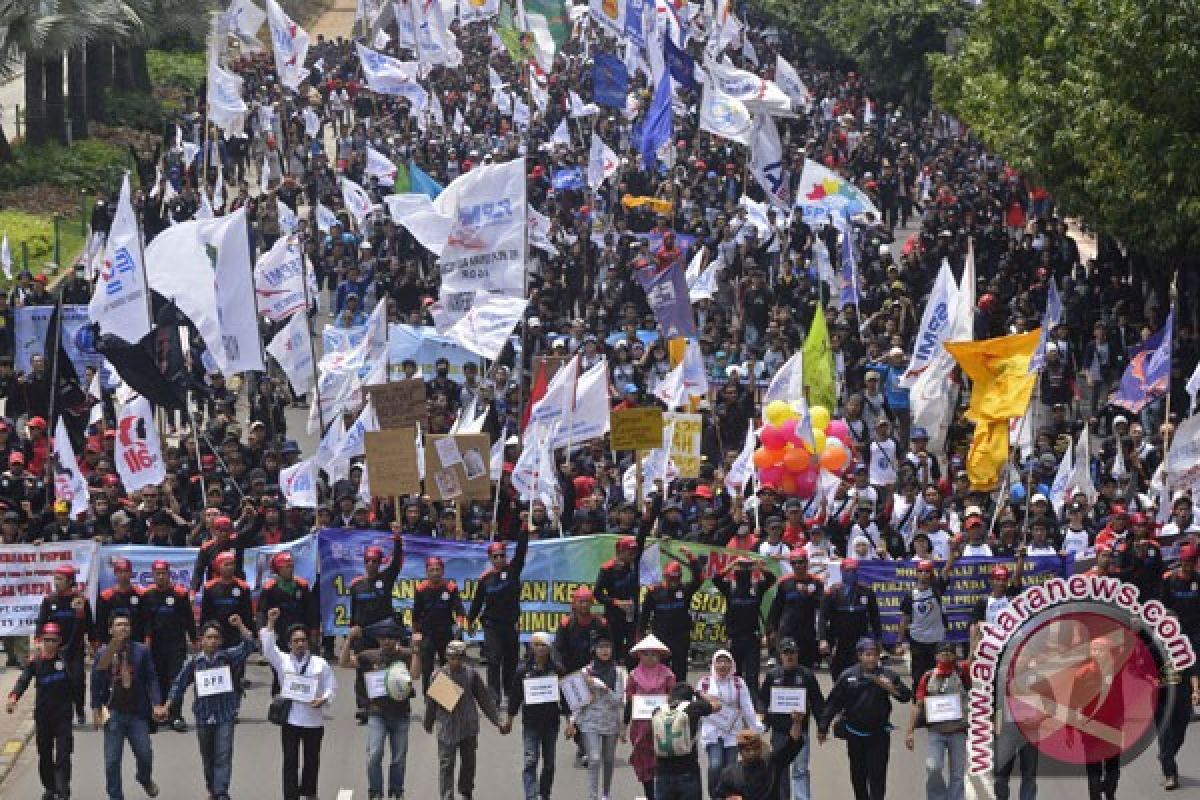
<svg viewBox="0 0 1200 800">
<path fill-rule="evenodd" d="M 250 676 L 254 681 L 242 712 L 242 723 L 238 726 L 234 754 L 234 780 L 232 794 L 234 798 L 277 798 L 280 796 L 280 744 L 278 732 L 266 722 L 268 668 L 251 667 Z M 692 680 L 695 680 L 694 676 Z M 350 789 L 354 800 L 366 798 L 365 746 L 366 730 L 358 727 L 353 720 L 354 697 L 353 675 L 348 670 L 337 670 L 338 696 L 332 708 L 332 720 L 325 728 L 322 748 L 320 798 L 323 800 L 342 800 L 340 789 Z M 828 684 L 826 675 L 822 682 Z M 190 703 L 191 700 L 188 700 Z M 415 706 L 421 709 L 421 702 Z M 190 717 L 190 715 L 187 715 Z M 895 710 L 893 721 L 907 720 L 907 709 Z M 512 735 L 500 736 L 494 728 L 485 723 L 485 733 L 480 742 L 479 781 L 476 782 L 476 800 L 522 800 L 521 789 L 521 739 L 520 722 Z M 894 735 L 892 741 L 889 794 L 894 798 L 924 796 L 923 766 L 924 734 L 918 733 L 917 752 L 904 748 L 902 736 Z M 191 733 L 178 734 L 163 732 L 154 736 L 155 777 L 162 787 L 164 800 L 203 800 L 203 777 L 196 739 Z M 613 800 L 632 800 L 641 795 L 628 766 L 628 745 L 618 747 L 618 765 L 614 778 Z M 558 752 L 558 777 L 554 783 L 556 798 L 564 800 L 582 800 L 587 798 L 587 772 L 577 770 L 571 764 L 572 751 L 560 746 Z M 1190 739 L 1181 753 L 1180 763 L 1186 777 L 1177 798 L 1200 796 L 1200 726 L 1192 730 Z M 410 799 L 437 798 L 437 747 L 433 736 L 426 735 L 418 727 L 409 738 L 408 777 L 406 780 L 407 796 Z M 128 752 L 125 756 L 126 798 L 136 800 L 144 796 L 133 782 L 133 764 Z M 76 732 L 74 754 L 74 800 L 104 800 L 103 792 L 103 754 L 102 736 L 89 728 Z M 845 750 L 840 742 L 830 740 L 818 746 L 812 754 L 814 796 L 850 798 L 847 763 Z M 1040 800 L 1079 800 L 1086 792 L 1082 776 L 1072 778 L 1043 778 L 1039 781 Z M 1015 788 L 1015 787 L 1014 787 Z M 32 742 L 26 748 L 20 763 L 5 782 L 2 796 L 25 800 L 41 796 L 37 781 L 37 765 Z M 1153 753 L 1139 757 L 1122 774 L 1121 796 L 1152 798 L 1163 795 L 1159 788 L 1158 765 Z"/>
</svg>

